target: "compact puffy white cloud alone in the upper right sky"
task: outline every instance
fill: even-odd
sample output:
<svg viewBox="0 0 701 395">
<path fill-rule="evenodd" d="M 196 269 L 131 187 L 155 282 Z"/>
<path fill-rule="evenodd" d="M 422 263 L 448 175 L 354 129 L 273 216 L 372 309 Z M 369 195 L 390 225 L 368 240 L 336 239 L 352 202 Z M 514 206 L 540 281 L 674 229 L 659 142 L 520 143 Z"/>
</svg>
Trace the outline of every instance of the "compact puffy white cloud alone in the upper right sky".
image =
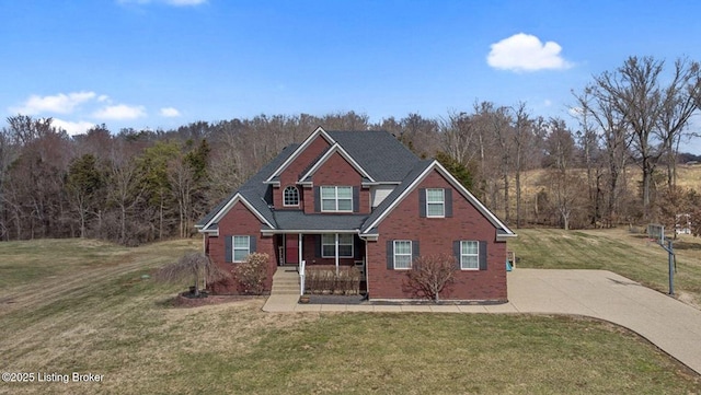
<svg viewBox="0 0 701 395">
<path fill-rule="evenodd" d="M 518 33 L 491 45 L 487 63 L 496 69 L 512 71 L 561 70 L 572 67 L 561 55 L 555 42 L 543 44 L 538 37 Z"/>
</svg>

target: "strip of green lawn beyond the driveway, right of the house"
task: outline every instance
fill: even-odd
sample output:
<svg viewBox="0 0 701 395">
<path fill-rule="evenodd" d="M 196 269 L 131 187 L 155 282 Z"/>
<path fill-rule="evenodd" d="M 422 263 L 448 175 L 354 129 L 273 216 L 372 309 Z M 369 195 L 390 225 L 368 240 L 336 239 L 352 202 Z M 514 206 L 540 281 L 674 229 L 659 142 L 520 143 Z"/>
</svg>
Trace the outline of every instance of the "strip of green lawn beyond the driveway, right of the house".
<svg viewBox="0 0 701 395">
<path fill-rule="evenodd" d="M 646 287 L 669 291 L 668 254 L 644 234 L 625 229 L 562 231 L 522 229 L 509 241 L 517 267 L 545 269 L 605 269 Z M 680 235 L 675 242 L 678 299 L 701 307 L 701 239 Z"/>
</svg>

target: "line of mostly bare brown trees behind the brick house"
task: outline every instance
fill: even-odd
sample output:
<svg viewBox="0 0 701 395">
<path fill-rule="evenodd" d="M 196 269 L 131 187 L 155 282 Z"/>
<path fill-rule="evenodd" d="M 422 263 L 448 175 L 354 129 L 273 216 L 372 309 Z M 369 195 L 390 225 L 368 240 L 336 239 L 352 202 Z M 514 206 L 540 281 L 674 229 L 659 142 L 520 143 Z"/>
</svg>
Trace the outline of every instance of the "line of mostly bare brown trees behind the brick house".
<svg viewBox="0 0 701 395">
<path fill-rule="evenodd" d="M 475 102 L 444 117 L 376 124 L 355 112 L 260 115 L 171 130 L 96 125 L 72 137 L 51 118 L 16 115 L 0 129 L 0 240 L 187 237 L 211 207 L 318 126 L 393 133 L 437 158 L 514 228 L 674 226 L 678 214 L 701 223 L 699 191 L 677 186 L 678 163 L 701 159 L 680 152 L 699 137 L 689 125 L 701 105 L 698 62 L 631 57 L 573 92 L 573 102 L 570 123 L 537 116 L 524 102 Z"/>
</svg>

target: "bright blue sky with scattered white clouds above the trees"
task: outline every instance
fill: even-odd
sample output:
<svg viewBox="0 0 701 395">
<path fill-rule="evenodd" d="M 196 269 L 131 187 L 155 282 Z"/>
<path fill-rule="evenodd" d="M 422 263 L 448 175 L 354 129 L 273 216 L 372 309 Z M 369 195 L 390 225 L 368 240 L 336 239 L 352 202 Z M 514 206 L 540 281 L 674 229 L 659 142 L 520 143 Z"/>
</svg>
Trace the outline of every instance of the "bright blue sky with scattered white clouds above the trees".
<svg viewBox="0 0 701 395">
<path fill-rule="evenodd" d="M 571 91 L 627 57 L 701 60 L 696 1 L 0 0 L 0 113 L 71 133 L 475 101 L 574 126 Z"/>
</svg>

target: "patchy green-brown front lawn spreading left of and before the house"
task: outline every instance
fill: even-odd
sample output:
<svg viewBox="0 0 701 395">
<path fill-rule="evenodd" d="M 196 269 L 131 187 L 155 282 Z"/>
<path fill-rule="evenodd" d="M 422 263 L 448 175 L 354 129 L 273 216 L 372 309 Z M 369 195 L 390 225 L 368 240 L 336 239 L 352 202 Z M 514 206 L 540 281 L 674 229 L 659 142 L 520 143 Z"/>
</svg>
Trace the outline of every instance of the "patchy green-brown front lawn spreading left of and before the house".
<svg viewBox="0 0 701 395">
<path fill-rule="evenodd" d="M 198 247 L 0 243 L 11 279 L 0 290 L 0 370 L 104 374 L 102 383 L 0 383 L 0 393 L 701 393 L 697 374 L 636 335 L 585 318 L 271 314 L 262 298 L 172 307 L 184 286 L 141 276 Z M 42 269 L 21 269 L 23 252 Z M 521 265 L 532 259 L 521 256 Z"/>
</svg>

